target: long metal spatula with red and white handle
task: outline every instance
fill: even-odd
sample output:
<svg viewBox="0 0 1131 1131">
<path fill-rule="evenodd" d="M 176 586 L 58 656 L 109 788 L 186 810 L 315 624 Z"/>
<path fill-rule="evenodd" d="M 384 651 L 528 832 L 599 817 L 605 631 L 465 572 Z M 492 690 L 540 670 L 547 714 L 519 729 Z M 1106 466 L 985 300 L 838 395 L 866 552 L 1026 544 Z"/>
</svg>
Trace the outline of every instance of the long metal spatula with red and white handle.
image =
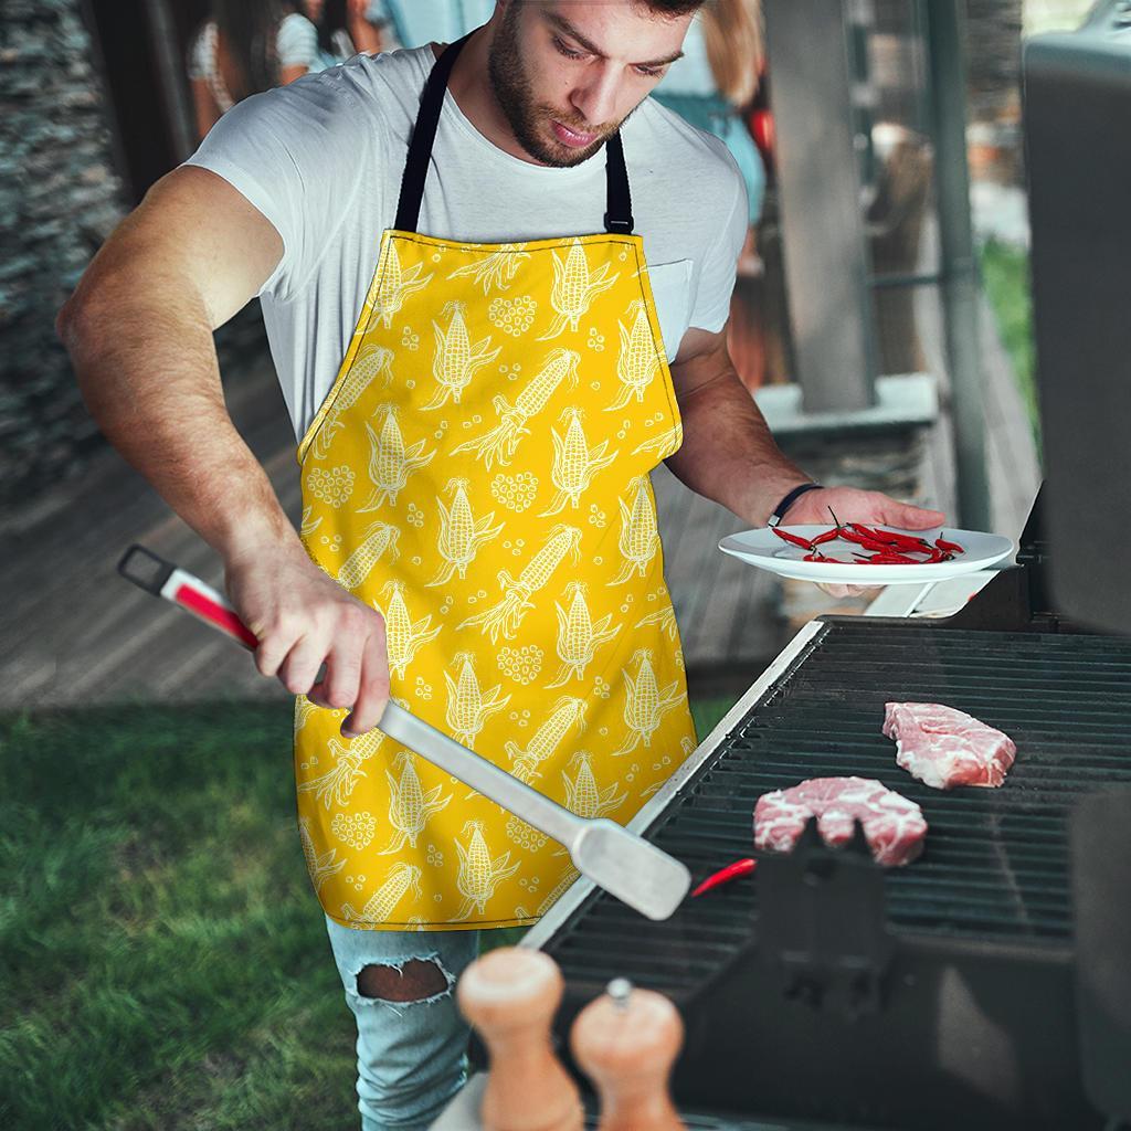
<svg viewBox="0 0 1131 1131">
<path fill-rule="evenodd" d="M 131 546 L 118 563 L 118 571 L 147 593 L 226 632 L 245 648 L 258 645 L 224 596 L 144 546 Z M 563 845 L 582 875 L 641 915 L 668 918 L 691 887 L 688 869 L 655 845 L 615 821 L 571 813 L 391 700 L 378 727 Z"/>
</svg>

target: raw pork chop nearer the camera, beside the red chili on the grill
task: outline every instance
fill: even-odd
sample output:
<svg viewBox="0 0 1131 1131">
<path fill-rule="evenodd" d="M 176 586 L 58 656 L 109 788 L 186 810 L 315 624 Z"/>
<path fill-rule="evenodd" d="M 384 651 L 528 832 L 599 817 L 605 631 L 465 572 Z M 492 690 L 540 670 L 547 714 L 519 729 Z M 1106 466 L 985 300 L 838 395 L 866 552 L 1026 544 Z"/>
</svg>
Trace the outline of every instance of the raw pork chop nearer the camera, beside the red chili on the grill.
<svg viewBox="0 0 1131 1131">
<path fill-rule="evenodd" d="M 909 864 L 926 836 L 923 811 L 872 778 L 810 778 L 762 794 L 754 805 L 754 847 L 789 852 L 810 817 L 827 845 L 852 839 L 858 818 L 877 864 Z"/>
</svg>

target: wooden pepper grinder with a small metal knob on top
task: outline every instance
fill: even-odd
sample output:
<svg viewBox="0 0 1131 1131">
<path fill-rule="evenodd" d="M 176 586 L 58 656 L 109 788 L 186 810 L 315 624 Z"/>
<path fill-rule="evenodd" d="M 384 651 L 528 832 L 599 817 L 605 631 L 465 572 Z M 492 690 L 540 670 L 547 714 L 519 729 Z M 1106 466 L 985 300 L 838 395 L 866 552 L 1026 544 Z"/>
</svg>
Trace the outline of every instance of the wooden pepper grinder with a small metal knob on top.
<svg viewBox="0 0 1131 1131">
<path fill-rule="evenodd" d="M 601 1096 L 598 1131 L 684 1131 L 667 1090 L 682 1044 L 676 1008 L 624 978 L 581 1010 L 570 1047 Z"/>
</svg>

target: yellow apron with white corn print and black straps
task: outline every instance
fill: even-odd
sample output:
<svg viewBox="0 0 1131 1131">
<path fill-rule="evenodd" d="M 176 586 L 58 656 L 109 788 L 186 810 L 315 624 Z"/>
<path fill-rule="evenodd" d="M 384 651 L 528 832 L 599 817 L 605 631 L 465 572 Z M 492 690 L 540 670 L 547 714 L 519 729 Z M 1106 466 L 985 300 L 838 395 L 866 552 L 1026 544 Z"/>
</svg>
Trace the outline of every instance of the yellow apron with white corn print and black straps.
<svg viewBox="0 0 1131 1131">
<path fill-rule="evenodd" d="M 619 136 L 606 233 L 416 233 L 461 45 L 429 78 L 396 226 L 299 447 L 302 538 L 383 615 L 397 701 L 625 824 L 696 742 L 648 478 L 679 409 Z M 555 841 L 379 729 L 344 741 L 344 715 L 296 702 L 300 835 L 330 918 L 526 925 L 577 878 Z"/>
</svg>

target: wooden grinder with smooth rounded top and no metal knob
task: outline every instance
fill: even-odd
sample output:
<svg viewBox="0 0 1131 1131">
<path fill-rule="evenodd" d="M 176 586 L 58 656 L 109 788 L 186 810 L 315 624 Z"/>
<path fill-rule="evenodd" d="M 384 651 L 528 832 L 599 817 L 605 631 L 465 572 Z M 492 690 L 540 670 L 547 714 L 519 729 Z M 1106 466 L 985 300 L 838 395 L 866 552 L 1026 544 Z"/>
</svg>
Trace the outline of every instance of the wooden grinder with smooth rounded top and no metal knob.
<svg viewBox="0 0 1131 1131">
<path fill-rule="evenodd" d="M 581 1131 L 577 1086 L 550 1042 L 566 983 L 549 955 L 492 950 L 464 970 L 456 1000 L 490 1053 L 483 1131 Z"/>
</svg>

